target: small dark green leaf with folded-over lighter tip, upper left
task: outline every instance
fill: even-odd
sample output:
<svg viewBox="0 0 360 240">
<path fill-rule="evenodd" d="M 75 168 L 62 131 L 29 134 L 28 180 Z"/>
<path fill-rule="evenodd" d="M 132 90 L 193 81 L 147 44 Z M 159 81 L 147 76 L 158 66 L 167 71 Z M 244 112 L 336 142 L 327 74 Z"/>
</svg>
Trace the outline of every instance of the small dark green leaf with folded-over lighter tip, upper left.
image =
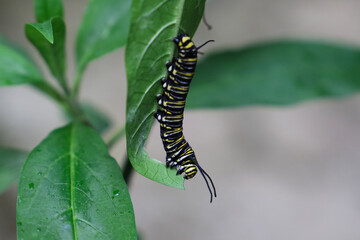
<svg viewBox="0 0 360 240">
<path fill-rule="evenodd" d="M 54 17 L 43 23 L 27 23 L 26 37 L 39 51 L 51 73 L 66 88 L 65 83 L 65 23 Z"/>
</svg>

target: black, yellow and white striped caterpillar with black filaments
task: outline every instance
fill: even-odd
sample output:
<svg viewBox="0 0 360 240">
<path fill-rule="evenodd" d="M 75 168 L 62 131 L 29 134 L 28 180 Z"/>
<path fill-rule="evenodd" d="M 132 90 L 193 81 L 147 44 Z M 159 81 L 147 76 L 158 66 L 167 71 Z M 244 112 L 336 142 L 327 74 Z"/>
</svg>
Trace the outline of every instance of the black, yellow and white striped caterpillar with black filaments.
<svg viewBox="0 0 360 240">
<path fill-rule="evenodd" d="M 210 180 L 216 197 L 214 183 L 200 167 L 194 150 L 184 138 L 183 117 L 186 96 L 195 72 L 198 50 L 214 40 L 209 40 L 200 47 L 196 47 L 187 34 L 179 34 L 172 40 L 177 45 L 179 55 L 166 64 L 168 77 L 161 79 L 164 91 L 156 96 L 159 109 L 154 114 L 160 123 L 160 136 L 166 151 L 166 166 L 176 167 L 177 174 L 181 174 L 185 179 L 193 178 L 199 169 L 209 189 L 210 202 L 212 202 L 213 192 L 207 179 Z"/>
</svg>

